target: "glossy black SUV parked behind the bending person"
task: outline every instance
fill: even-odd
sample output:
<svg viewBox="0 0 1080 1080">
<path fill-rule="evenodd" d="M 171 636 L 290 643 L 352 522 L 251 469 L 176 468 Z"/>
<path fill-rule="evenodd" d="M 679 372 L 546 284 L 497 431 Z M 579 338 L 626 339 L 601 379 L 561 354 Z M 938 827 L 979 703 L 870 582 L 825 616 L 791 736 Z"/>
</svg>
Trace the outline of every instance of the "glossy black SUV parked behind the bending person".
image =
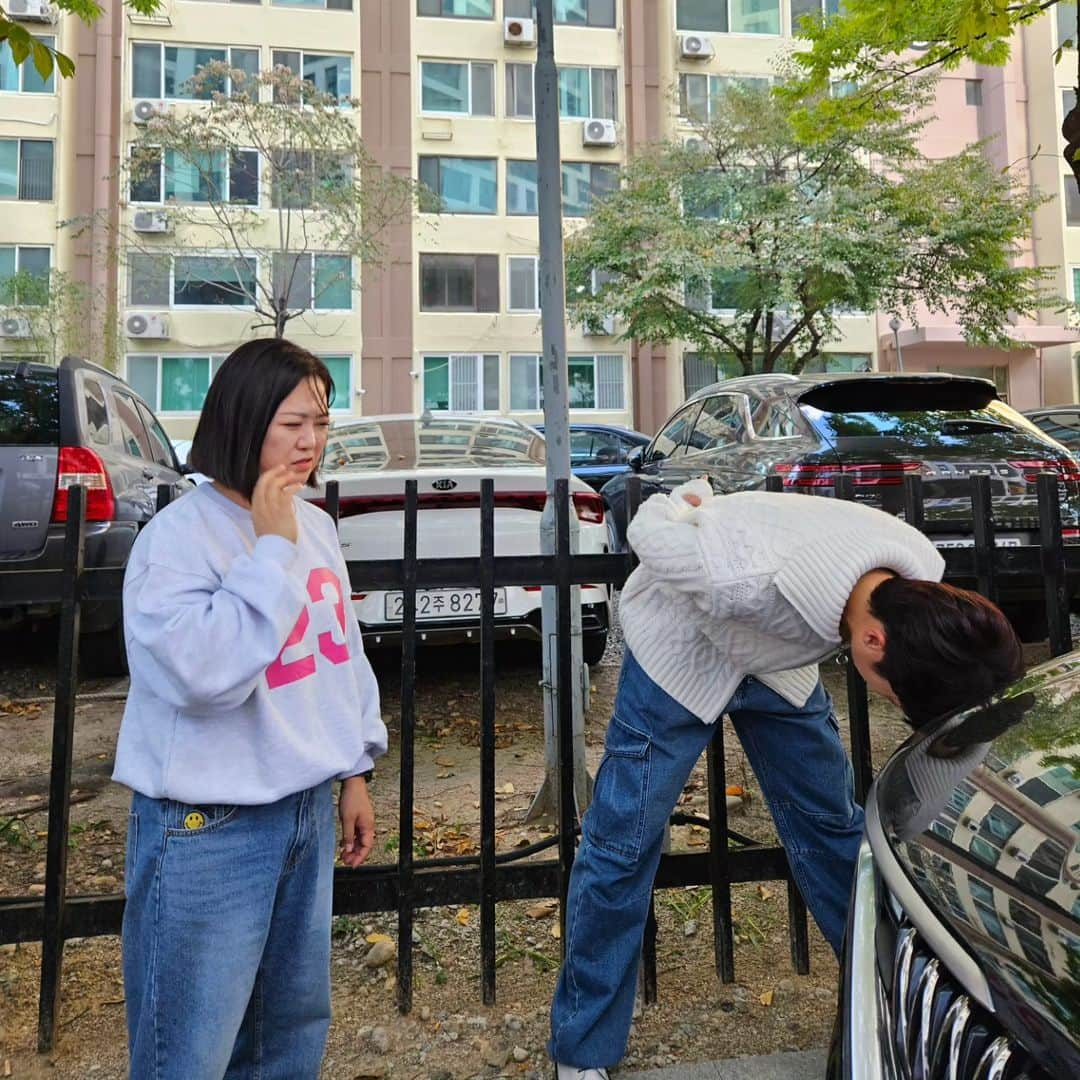
<svg viewBox="0 0 1080 1080">
<path fill-rule="evenodd" d="M 922 477 L 926 531 L 940 548 L 974 544 L 969 477 L 990 477 L 996 542 L 1038 543 L 1036 480 L 1061 480 L 1066 542 L 1080 541 L 1080 464 L 986 379 L 956 375 L 751 375 L 706 387 L 676 409 L 630 457 L 642 497 L 706 475 L 714 490 L 758 488 L 770 474 L 785 488 L 832 496 L 850 478 L 860 502 L 903 512 L 903 478 Z M 612 546 L 625 544 L 627 476 L 604 485 Z M 999 599 L 1017 631 L 1045 634 L 1041 581 L 1021 581 Z M 1032 599 L 1035 603 L 1032 603 Z"/>
</svg>

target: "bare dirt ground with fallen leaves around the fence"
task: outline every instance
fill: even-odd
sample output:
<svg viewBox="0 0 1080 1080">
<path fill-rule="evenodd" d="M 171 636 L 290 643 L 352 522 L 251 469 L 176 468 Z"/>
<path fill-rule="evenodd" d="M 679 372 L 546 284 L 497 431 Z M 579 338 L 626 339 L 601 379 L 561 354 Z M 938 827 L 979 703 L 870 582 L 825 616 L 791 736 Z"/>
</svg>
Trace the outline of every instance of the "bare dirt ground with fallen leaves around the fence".
<svg viewBox="0 0 1080 1080">
<path fill-rule="evenodd" d="M 586 718 L 590 768 L 599 758 L 615 694 L 618 642 L 593 669 Z M 1031 650 L 1038 662 L 1045 650 Z M 400 687 L 392 658 L 377 657 L 383 715 L 397 744 Z M 496 784 L 498 848 L 535 842 L 550 829 L 524 821 L 543 778 L 540 671 L 532 649 L 498 652 Z M 823 667 L 846 730 L 842 670 Z M 2 678 L 2 676 L 0 676 Z M 40 681 L 40 680 L 37 680 Z M 37 688 L 23 678 L 17 686 Z M 97 689 L 103 689 L 98 687 Z M 108 689 L 108 688 L 104 688 Z M 0 681 L 2 696 L 17 697 Z M 87 701 L 77 715 L 76 802 L 69 852 L 72 893 L 122 889 L 127 793 L 108 781 L 122 704 Z M 480 838 L 478 653 L 424 651 L 417 683 L 417 855 L 463 854 Z M 0 895 L 40 892 L 44 874 L 44 794 L 51 710 L 9 702 L 0 707 Z M 874 760 L 880 765 L 906 737 L 887 703 L 872 711 Z M 745 758 L 726 731 L 729 783 L 747 799 L 733 811 L 741 833 L 774 839 Z M 397 851 L 397 767 L 393 751 L 380 762 L 374 785 L 380 842 L 376 858 L 392 863 Z M 683 796 L 683 809 L 706 815 L 703 765 Z M 673 831 L 674 850 L 700 850 L 706 835 L 694 826 Z M 811 969 L 792 969 L 786 899 L 781 883 L 734 889 L 735 983 L 721 984 L 714 966 L 712 904 L 707 889 L 657 894 L 659 1001 L 635 1021 L 626 1068 L 700 1063 L 743 1054 L 800 1050 L 828 1040 L 837 967 L 811 924 Z M 482 1004 L 480 926 L 475 908 L 417 914 L 414 1008 L 394 1004 L 396 916 L 335 920 L 334 1023 L 324 1077 L 451 1078 L 546 1077 L 548 1004 L 559 957 L 558 915 L 552 903 L 500 903 L 497 915 L 497 1004 Z M 384 958 L 382 962 L 376 962 Z M 0 1077 L 123 1077 L 125 1036 L 120 949 L 116 937 L 68 943 L 56 1049 L 35 1053 L 40 948 L 0 953 Z M 5 1071 L 10 1068 L 10 1074 Z"/>
</svg>

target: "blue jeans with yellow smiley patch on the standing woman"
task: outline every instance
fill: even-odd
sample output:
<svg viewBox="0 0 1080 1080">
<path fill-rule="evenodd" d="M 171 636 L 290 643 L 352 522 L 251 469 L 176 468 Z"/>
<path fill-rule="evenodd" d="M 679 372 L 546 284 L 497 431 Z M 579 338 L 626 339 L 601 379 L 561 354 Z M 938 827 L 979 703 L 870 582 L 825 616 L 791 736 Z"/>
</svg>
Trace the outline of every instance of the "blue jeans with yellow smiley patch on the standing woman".
<svg viewBox="0 0 1080 1080">
<path fill-rule="evenodd" d="M 336 841 L 329 781 L 267 806 L 135 795 L 123 921 L 132 1080 L 315 1080 Z"/>
</svg>

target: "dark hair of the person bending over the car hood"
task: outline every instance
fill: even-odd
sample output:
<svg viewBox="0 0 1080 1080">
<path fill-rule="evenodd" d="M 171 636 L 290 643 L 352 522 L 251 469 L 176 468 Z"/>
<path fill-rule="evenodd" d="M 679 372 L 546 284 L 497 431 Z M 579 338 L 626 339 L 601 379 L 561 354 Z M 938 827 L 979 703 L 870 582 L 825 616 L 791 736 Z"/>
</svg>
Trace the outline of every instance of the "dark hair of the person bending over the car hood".
<svg viewBox="0 0 1080 1080">
<path fill-rule="evenodd" d="M 1024 674 L 1016 632 L 978 593 L 888 578 L 870 593 L 869 610 L 886 634 L 877 673 L 915 727 L 982 704 Z"/>
</svg>

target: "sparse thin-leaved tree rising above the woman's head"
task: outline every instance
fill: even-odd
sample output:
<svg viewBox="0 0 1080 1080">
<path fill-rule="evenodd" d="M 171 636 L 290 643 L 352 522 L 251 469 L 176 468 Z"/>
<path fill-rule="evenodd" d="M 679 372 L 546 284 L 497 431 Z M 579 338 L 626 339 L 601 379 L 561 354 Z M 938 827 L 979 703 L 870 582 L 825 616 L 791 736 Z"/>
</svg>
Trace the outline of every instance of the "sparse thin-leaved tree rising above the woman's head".
<svg viewBox="0 0 1080 1080">
<path fill-rule="evenodd" d="M 127 214 L 111 234 L 129 299 L 161 302 L 150 297 L 183 254 L 184 284 L 251 309 L 253 329 L 281 337 L 308 310 L 352 307 L 353 260 L 382 257 L 383 231 L 409 218 L 417 186 L 368 153 L 355 102 L 288 68 L 253 75 L 215 62 L 191 83 L 206 104 L 153 116 L 122 170 L 135 208 L 160 204 L 167 229 L 136 229 Z"/>
</svg>

